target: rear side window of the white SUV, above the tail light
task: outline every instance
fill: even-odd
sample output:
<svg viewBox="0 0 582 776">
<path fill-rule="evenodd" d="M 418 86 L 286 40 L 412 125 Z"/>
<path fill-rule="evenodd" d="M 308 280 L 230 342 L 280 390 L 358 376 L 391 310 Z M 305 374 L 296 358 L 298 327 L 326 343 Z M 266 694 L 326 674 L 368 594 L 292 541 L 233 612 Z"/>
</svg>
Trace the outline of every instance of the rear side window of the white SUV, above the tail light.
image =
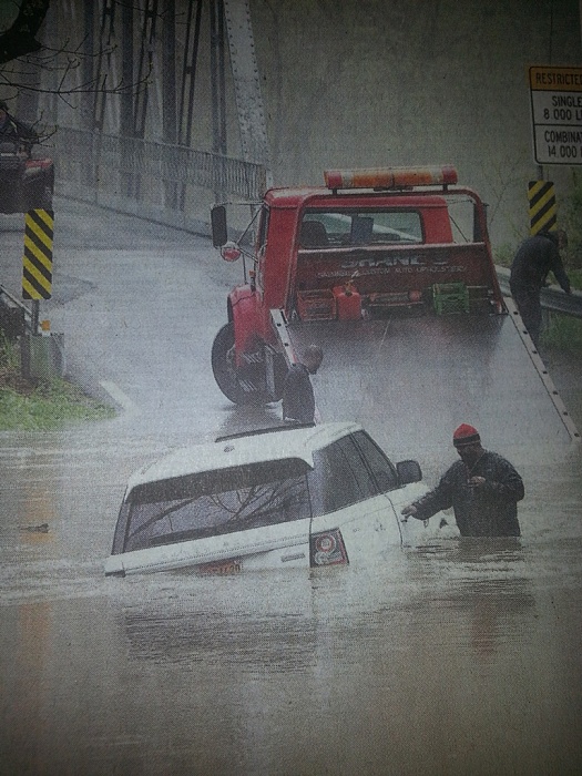
<svg viewBox="0 0 582 776">
<path fill-rule="evenodd" d="M 349 437 L 314 452 L 309 490 L 314 514 L 326 514 L 369 499 L 378 489 Z"/>
</svg>

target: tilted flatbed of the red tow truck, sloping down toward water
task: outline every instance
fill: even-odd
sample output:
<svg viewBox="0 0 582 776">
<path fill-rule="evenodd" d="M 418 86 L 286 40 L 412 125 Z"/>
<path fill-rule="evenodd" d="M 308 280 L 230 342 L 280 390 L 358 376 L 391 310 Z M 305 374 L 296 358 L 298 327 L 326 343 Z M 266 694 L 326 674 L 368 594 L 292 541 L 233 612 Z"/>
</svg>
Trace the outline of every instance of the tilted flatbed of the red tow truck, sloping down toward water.
<svg viewBox="0 0 582 776">
<path fill-rule="evenodd" d="M 411 439 L 442 449 L 463 421 L 500 448 L 578 435 L 510 314 L 295 323 L 287 331 L 295 353 L 324 349 L 314 378 L 321 420 L 365 423 L 392 449 L 410 449 Z"/>
</svg>

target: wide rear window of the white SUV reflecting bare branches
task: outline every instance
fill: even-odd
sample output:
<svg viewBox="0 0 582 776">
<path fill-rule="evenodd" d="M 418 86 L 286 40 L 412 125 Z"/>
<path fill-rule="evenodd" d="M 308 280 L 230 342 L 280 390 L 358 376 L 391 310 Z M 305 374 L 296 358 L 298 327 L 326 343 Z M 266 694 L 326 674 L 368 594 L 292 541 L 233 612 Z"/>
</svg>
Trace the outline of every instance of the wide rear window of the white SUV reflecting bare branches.
<svg viewBox="0 0 582 776">
<path fill-rule="evenodd" d="M 289 459 L 137 486 L 122 507 L 113 552 L 309 518 L 308 470 Z"/>
</svg>

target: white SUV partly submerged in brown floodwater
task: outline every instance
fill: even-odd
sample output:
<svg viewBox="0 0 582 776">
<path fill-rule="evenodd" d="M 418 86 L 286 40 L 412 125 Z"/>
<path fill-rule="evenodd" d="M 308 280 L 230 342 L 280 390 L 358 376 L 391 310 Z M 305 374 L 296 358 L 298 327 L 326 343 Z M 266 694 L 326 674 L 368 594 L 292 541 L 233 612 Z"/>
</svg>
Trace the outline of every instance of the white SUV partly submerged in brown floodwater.
<svg viewBox="0 0 582 776">
<path fill-rule="evenodd" d="M 130 479 L 105 574 L 365 563 L 422 531 L 400 518 L 421 478 L 353 422 L 184 448 Z"/>
</svg>

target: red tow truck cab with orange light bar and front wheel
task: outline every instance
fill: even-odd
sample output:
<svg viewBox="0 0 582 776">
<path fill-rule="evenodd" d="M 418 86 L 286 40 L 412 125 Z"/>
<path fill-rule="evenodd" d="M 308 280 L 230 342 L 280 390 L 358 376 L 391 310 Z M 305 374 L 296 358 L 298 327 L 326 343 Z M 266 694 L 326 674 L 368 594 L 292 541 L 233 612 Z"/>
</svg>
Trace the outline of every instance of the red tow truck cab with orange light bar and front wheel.
<svg viewBox="0 0 582 776">
<path fill-rule="evenodd" d="M 255 210 L 252 268 L 228 296 L 228 321 L 213 347 L 215 378 L 236 404 L 279 398 L 295 356 L 274 312 L 283 325 L 440 314 L 447 305 L 506 312 L 483 203 L 456 186 L 452 167 L 324 176 L 320 187 L 272 188 Z M 227 239 L 224 205 L 213 208 L 212 224 L 225 259 L 245 254 Z"/>
</svg>

